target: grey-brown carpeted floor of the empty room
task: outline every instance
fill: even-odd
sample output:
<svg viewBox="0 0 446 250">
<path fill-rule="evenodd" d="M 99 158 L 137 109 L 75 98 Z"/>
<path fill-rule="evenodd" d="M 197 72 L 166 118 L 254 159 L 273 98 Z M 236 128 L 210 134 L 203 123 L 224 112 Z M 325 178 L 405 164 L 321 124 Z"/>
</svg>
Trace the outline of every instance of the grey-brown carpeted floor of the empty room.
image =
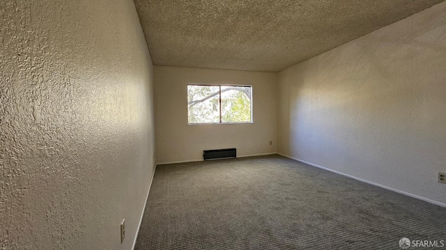
<svg viewBox="0 0 446 250">
<path fill-rule="evenodd" d="M 135 249 L 400 249 L 403 237 L 446 244 L 446 208 L 272 155 L 158 166 Z"/>
</svg>

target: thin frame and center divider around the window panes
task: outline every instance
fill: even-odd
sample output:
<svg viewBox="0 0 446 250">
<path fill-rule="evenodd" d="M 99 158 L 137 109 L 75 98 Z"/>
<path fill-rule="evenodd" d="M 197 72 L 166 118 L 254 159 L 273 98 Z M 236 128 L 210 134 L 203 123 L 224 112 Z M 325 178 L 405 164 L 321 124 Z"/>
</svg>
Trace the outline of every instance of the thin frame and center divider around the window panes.
<svg viewBox="0 0 446 250">
<path fill-rule="evenodd" d="M 187 91 L 188 91 L 188 86 L 217 86 L 220 87 L 220 94 L 218 94 L 219 96 L 219 105 L 220 105 L 220 122 L 200 122 L 200 123 L 190 123 L 189 122 L 189 102 L 187 100 Z M 251 100 L 250 100 L 250 104 L 251 104 L 251 122 L 222 122 L 222 87 L 249 87 L 251 90 Z M 209 125 L 209 124 L 253 124 L 254 123 L 254 96 L 252 94 L 252 85 L 247 85 L 247 84 L 229 84 L 229 83 L 224 83 L 224 84 L 213 84 L 213 83 L 187 83 L 186 85 L 186 111 L 187 111 L 187 125 Z"/>
</svg>

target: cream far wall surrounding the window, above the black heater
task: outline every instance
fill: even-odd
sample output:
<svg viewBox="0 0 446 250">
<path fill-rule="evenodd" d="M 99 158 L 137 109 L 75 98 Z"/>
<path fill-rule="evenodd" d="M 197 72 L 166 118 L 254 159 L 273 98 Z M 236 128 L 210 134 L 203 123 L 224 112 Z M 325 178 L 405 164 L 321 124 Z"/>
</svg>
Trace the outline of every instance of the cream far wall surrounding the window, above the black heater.
<svg viewBox="0 0 446 250">
<path fill-rule="evenodd" d="M 153 74 L 158 163 L 203 160 L 207 149 L 235 147 L 238 156 L 276 151 L 276 73 L 154 66 Z M 187 125 L 188 83 L 252 85 L 254 123 Z"/>
</svg>

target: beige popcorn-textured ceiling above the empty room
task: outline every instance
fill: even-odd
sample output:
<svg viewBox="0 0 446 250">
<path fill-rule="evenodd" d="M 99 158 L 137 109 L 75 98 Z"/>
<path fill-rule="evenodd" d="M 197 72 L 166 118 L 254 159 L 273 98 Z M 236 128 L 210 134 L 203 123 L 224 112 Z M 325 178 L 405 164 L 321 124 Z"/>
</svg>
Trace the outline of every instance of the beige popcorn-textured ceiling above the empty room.
<svg viewBox="0 0 446 250">
<path fill-rule="evenodd" d="M 278 72 L 444 0 L 134 0 L 153 64 Z"/>
</svg>

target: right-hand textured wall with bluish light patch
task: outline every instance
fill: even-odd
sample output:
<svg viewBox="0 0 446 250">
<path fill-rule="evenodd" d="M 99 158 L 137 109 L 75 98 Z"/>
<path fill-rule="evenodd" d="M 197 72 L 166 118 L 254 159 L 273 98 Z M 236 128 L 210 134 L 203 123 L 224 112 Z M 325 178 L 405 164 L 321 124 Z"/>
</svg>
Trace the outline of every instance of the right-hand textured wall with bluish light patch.
<svg viewBox="0 0 446 250">
<path fill-rule="evenodd" d="M 446 2 L 279 73 L 280 153 L 446 203 Z"/>
</svg>

